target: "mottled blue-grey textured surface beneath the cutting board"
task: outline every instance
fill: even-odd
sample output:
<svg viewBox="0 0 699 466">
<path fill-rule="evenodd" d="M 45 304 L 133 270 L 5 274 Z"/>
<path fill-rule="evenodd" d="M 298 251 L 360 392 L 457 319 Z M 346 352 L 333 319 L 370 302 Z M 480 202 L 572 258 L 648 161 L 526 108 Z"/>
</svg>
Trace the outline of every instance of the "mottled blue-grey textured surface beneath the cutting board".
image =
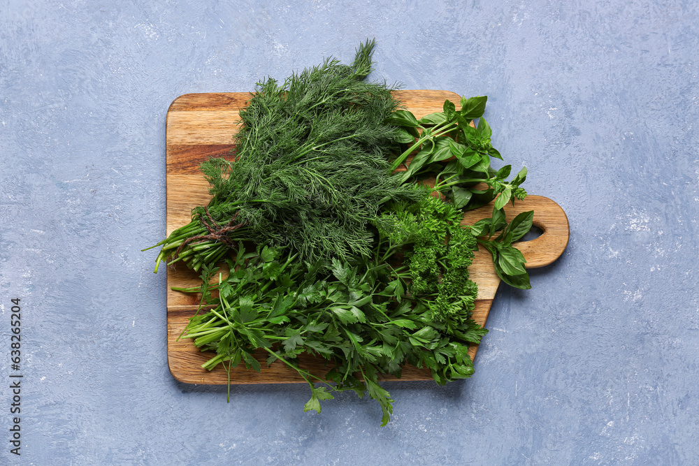
<svg viewBox="0 0 699 466">
<path fill-rule="evenodd" d="M 1 3 L 0 463 L 698 462 L 697 3 Z M 178 383 L 140 252 L 165 229 L 168 105 L 367 37 L 375 79 L 489 96 L 493 143 L 567 212 L 568 249 L 498 291 L 472 379 L 386 384 L 385 428 L 353 394 L 316 415 L 301 385 L 226 404 Z"/>
</svg>

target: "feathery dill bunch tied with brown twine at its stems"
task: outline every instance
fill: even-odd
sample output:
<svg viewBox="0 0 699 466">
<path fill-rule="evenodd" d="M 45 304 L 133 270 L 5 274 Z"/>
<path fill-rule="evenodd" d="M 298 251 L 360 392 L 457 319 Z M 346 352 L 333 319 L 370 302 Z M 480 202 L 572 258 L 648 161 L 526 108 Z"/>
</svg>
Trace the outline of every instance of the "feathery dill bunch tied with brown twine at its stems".
<svg viewBox="0 0 699 466">
<path fill-rule="evenodd" d="M 212 200 L 159 243 L 157 262 L 199 270 L 238 240 L 289 246 L 309 263 L 368 256 L 380 206 L 416 196 L 391 175 L 401 129 L 387 119 L 399 103 L 385 82 L 366 81 L 373 48 L 363 43 L 352 65 L 326 59 L 281 84 L 259 82 L 240 111 L 233 161 L 201 166 Z"/>
</svg>

